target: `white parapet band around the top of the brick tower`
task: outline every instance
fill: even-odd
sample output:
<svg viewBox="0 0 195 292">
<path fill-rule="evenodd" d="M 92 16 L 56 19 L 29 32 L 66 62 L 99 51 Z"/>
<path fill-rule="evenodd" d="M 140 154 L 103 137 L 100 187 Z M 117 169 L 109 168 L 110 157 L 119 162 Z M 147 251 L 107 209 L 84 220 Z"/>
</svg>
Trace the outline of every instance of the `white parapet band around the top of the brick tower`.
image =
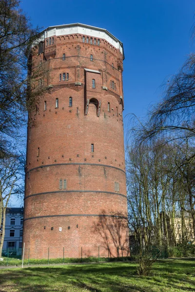
<svg viewBox="0 0 195 292">
<path fill-rule="evenodd" d="M 49 26 L 48 28 L 40 32 L 39 40 L 43 41 L 47 37 L 64 36 L 64 35 L 71 35 L 71 34 L 80 34 L 80 35 L 85 35 L 89 37 L 103 38 L 106 41 L 108 41 L 111 45 L 113 45 L 116 49 L 119 49 L 124 59 L 123 44 L 119 39 L 117 39 L 117 37 L 113 36 L 104 28 L 99 28 L 99 27 L 95 27 L 95 26 L 91 26 L 87 24 L 72 23 L 72 24 Z"/>
</svg>

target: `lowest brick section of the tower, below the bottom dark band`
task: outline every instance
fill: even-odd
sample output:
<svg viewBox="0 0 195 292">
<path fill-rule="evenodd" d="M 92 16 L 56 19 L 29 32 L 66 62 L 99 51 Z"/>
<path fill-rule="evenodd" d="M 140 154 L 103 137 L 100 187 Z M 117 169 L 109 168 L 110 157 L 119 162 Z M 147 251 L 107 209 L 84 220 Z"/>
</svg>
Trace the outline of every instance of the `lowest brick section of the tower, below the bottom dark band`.
<svg viewBox="0 0 195 292">
<path fill-rule="evenodd" d="M 36 233 L 24 237 L 25 259 L 130 255 L 127 228 L 116 218 L 39 218 L 26 220 L 25 225 L 28 230 L 35 230 L 37 226 Z M 38 225 L 41 226 L 41 232 Z"/>
</svg>

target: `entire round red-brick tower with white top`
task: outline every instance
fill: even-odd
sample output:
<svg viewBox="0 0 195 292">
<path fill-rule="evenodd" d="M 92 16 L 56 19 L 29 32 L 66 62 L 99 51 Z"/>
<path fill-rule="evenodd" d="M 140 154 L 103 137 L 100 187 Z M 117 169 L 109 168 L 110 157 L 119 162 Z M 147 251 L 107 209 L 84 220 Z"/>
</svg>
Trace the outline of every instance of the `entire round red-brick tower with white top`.
<svg viewBox="0 0 195 292">
<path fill-rule="evenodd" d="M 128 254 L 123 58 L 116 37 L 82 24 L 49 27 L 32 49 L 49 72 L 29 113 L 26 258 Z"/>
</svg>

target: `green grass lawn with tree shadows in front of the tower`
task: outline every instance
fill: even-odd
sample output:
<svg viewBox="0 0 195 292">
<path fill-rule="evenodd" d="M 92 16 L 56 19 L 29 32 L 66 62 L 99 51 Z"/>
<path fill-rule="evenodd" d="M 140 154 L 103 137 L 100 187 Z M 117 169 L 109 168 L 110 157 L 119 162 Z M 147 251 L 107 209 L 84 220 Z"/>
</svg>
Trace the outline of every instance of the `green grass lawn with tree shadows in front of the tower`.
<svg viewBox="0 0 195 292">
<path fill-rule="evenodd" d="M 2 269 L 0 292 L 195 291 L 195 258 L 159 260 L 147 277 L 137 276 L 136 267 L 114 262 Z"/>
</svg>

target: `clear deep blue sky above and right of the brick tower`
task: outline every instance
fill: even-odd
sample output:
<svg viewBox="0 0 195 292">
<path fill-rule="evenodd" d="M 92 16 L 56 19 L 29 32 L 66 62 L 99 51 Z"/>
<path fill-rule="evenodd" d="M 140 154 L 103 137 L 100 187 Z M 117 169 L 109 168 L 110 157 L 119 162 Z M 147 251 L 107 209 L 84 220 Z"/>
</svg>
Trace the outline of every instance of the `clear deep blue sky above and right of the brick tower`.
<svg viewBox="0 0 195 292">
<path fill-rule="evenodd" d="M 145 115 L 160 100 L 162 82 L 194 50 L 194 0 L 23 0 L 20 6 L 42 29 L 80 22 L 105 28 L 123 42 L 124 115 Z"/>
</svg>

